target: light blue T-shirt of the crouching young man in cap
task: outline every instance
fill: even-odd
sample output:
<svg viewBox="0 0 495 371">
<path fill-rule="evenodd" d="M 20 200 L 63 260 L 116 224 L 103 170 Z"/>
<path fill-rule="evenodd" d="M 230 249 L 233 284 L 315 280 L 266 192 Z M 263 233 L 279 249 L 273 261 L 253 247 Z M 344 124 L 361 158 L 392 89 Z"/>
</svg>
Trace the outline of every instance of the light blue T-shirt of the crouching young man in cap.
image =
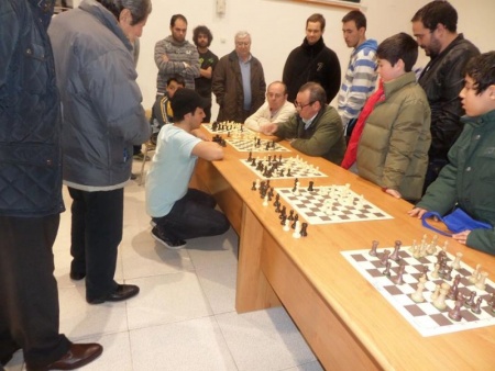
<svg viewBox="0 0 495 371">
<path fill-rule="evenodd" d="M 167 215 L 174 203 L 186 195 L 197 156 L 193 148 L 201 139 L 175 126 L 162 127 L 155 156 L 146 176 L 146 212 L 152 217 Z"/>
</svg>

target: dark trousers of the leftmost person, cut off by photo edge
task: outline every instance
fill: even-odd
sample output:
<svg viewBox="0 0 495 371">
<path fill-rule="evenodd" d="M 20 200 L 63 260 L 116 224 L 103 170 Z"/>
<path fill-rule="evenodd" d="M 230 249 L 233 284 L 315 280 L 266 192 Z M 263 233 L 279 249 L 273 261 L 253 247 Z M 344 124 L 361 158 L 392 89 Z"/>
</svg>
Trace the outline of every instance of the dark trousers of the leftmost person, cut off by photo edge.
<svg viewBox="0 0 495 371">
<path fill-rule="evenodd" d="M 69 349 L 53 276 L 59 220 L 0 216 L 0 359 L 22 348 L 30 367 L 44 367 Z"/>
</svg>

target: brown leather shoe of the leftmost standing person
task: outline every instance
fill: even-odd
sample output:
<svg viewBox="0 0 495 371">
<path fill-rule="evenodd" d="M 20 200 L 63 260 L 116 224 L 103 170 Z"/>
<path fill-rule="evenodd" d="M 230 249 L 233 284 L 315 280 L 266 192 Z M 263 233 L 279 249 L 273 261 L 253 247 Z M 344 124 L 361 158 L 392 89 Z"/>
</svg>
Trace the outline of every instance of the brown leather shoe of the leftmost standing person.
<svg viewBox="0 0 495 371">
<path fill-rule="evenodd" d="M 74 370 L 92 362 L 102 352 L 103 347 L 99 344 L 72 344 L 69 350 L 59 360 L 42 368 L 28 366 L 28 371 Z"/>
</svg>

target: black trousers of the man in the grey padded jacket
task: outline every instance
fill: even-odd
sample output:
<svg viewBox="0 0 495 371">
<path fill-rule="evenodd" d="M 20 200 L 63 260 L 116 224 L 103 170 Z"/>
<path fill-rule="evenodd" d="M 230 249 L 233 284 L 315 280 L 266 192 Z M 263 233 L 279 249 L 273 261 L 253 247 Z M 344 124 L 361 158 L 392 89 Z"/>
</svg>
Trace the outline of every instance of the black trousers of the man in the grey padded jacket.
<svg viewBox="0 0 495 371">
<path fill-rule="evenodd" d="M 123 189 L 86 192 L 68 188 L 73 198 L 70 271 L 86 273 L 86 299 L 107 296 L 117 289 L 117 252 L 122 240 Z"/>
</svg>

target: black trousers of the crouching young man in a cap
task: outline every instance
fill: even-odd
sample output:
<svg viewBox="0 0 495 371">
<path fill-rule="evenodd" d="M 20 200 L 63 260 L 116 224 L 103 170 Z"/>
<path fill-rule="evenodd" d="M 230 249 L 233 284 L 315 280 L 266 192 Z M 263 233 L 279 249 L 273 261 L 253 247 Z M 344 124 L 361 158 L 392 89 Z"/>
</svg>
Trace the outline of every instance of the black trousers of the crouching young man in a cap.
<svg viewBox="0 0 495 371">
<path fill-rule="evenodd" d="M 188 189 L 167 215 L 154 217 L 153 221 L 170 239 L 221 235 L 229 229 L 230 224 L 223 213 L 215 210 L 216 204 L 210 194 Z"/>
</svg>

